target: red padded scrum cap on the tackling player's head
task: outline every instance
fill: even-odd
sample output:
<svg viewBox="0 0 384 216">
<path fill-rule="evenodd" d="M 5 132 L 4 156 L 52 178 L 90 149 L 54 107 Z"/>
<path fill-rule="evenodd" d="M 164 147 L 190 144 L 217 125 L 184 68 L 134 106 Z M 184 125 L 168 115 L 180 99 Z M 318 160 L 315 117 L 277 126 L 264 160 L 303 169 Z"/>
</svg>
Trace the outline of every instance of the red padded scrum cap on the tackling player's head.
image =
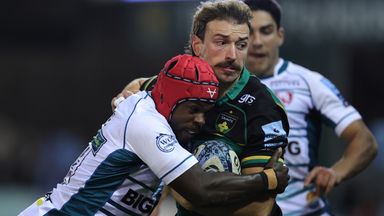
<svg viewBox="0 0 384 216">
<path fill-rule="evenodd" d="M 216 102 L 218 86 L 219 81 L 207 62 L 185 54 L 165 63 L 151 94 L 157 111 L 169 121 L 175 107 L 182 102 Z"/>
</svg>

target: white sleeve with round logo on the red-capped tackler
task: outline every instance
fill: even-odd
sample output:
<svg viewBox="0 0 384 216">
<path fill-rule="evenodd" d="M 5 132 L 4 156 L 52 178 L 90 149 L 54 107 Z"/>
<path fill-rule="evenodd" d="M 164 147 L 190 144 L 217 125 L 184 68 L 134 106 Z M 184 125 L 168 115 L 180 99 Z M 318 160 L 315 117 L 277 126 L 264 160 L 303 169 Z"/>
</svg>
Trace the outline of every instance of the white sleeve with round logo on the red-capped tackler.
<svg viewBox="0 0 384 216">
<path fill-rule="evenodd" d="M 166 119 L 158 113 L 133 115 L 127 124 L 127 148 L 169 184 L 198 161 L 176 140 Z"/>
</svg>

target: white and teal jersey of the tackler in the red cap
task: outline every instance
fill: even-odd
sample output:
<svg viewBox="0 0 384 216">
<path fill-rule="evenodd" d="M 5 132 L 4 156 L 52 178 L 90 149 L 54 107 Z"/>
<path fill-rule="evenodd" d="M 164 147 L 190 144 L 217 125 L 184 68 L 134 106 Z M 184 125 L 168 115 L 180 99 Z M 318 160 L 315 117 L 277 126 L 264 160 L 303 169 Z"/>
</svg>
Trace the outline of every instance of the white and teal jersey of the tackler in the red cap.
<svg viewBox="0 0 384 216">
<path fill-rule="evenodd" d="M 139 92 L 119 104 L 64 182 L 21 215 L 147 215 L 159 183 L 196 163 L 149 94 Z"/>
</svg>

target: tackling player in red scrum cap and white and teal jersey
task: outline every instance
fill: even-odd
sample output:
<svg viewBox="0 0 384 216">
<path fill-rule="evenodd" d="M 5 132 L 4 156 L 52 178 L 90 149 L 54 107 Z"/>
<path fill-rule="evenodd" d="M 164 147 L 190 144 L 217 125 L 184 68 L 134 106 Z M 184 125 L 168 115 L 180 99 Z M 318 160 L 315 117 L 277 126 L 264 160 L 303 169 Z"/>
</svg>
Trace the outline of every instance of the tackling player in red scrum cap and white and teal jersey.
<svg viewBox="0 0 384 216">
<path fill-rule="evenodd" d="M 271 190 L 283 190 L 289 176 L 275 163 L 278 154 L 275 168 L 268 170 L 274 176 L 265 181 L 261 174 L 206 173 L 180 146 L 200 131 L 217 91 L 207 63 L 190 55 L 172 58 L 153 90 L 122 102 L 64 181 L 20 215 L 148 215 L 160 181 L 197 206 L 248 202 L 274 181 Z"/>
</svg>

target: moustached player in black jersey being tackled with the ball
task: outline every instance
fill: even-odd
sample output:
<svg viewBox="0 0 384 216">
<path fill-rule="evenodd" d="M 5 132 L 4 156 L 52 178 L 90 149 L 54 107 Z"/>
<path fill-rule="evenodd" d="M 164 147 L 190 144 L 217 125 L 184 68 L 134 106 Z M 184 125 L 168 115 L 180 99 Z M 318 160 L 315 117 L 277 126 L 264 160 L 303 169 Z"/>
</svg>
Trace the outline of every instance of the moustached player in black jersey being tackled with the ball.
<svg viewBox="0 0 384 216">
<path fill-rule="evenodd" d="M 244 67 L 250 20 L 251 11 L 242 1 L 206 1 L 193 17 L 190 34 L 190 52 L 206 60 L 220 81 L 220 98 L 207 113 L 205 135 L 199 139 L 221 139 L 230 144 L 241 160 L 242 174 L 262 172 L 273 152 L 286 146 L 289 130 L 283 105 Z M 155 78 L 144 80 L 128 84 L 112 103 L 127 94 L 126 90 L 155 83 Z M 275 195 L 276 191 L 258 193 L 254 195 L 257 201 L 241 208 L 216 209 L 215 215 L 281 215 Z M 179 215 L 197 215 L 181 210 Z"/>
</svg>

